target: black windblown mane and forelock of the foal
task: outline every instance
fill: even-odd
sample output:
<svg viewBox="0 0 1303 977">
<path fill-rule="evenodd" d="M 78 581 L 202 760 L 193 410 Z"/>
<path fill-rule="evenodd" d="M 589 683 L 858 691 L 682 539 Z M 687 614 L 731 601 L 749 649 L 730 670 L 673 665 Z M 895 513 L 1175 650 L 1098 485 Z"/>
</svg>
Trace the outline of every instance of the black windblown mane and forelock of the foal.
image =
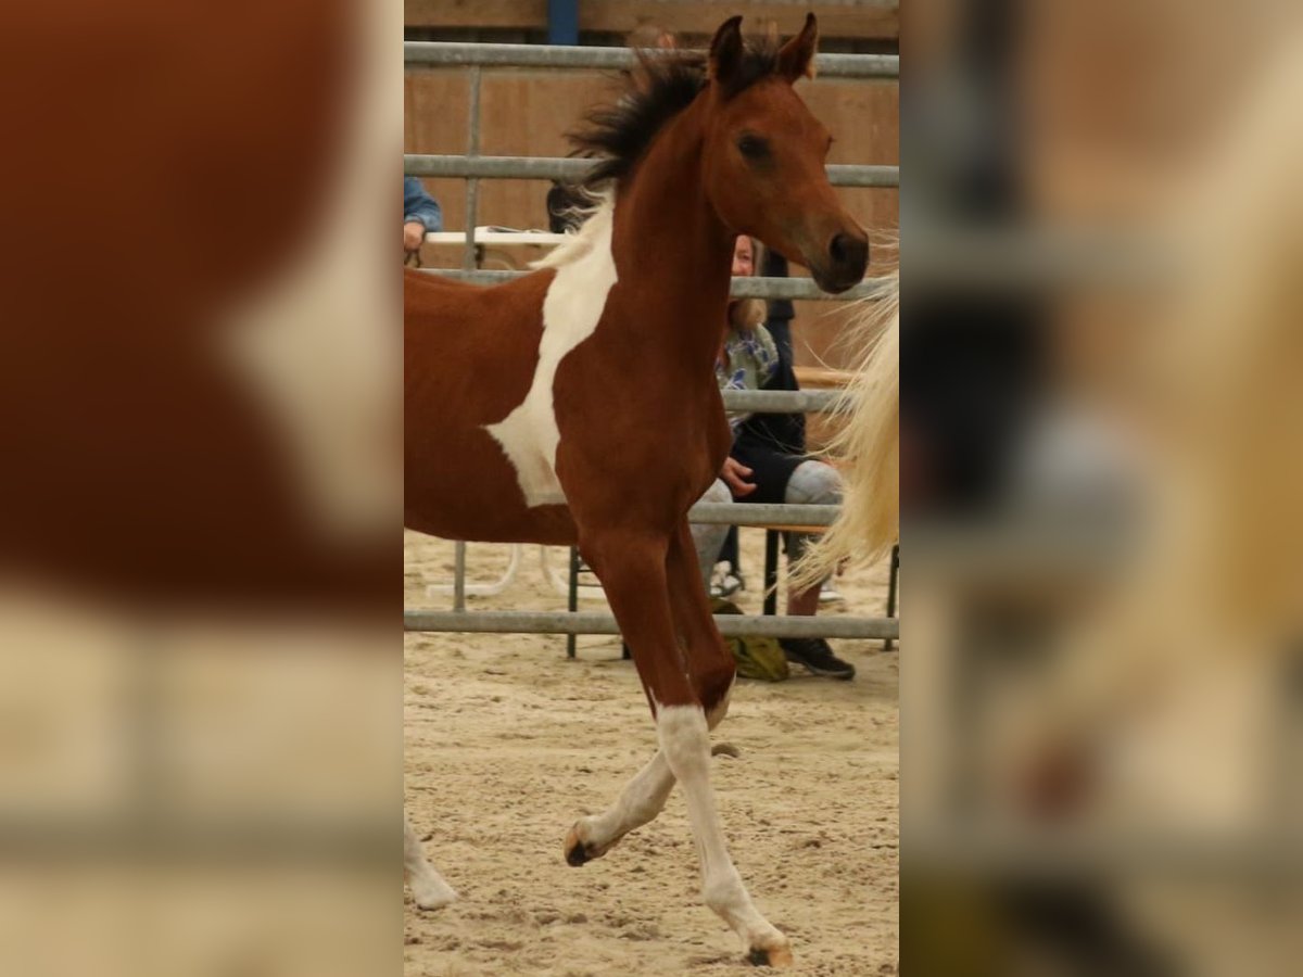
<svg viewBox="0 0 1303 977">
<path fill-rule="evenodd" d="M 625 73 L 627 87 L 620 98 L 614 104 L 588 112 L 582 128 L 568 134 L 575 155 L 599 160 L 580 181 L 580 186 L 589 193 L 628 176 L 655 134 L 706 87 L 704 55 L 635 53 L 637 64 Z M 724 99 L 769 77 L 777 66 L 777 43 L 748 43 L 741 63 L 723 90 Z"/>
</svg>

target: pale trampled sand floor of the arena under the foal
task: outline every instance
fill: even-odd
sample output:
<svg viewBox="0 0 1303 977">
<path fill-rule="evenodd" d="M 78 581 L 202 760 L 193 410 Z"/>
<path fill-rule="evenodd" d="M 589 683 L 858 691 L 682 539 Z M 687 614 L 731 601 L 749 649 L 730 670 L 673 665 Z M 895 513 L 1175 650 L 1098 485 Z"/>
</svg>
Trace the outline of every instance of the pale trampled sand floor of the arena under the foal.
<svg viewBox="0 0 1303 977">
<path fill-rule="evenodd" d="M 760 610 L 761 530 L 743 530 Z M 452 577 L 452 545 L 409 533 L 407 604 L 448 606 L 427 582 Z M 496 578 L 508 547 L 472 546 L 470 580 Z M 552 563 L 564 565 L 563 551 Z M 883 611 L 886 565 L 843 577 L 846 603 Z M 472 610 L 564 610 L 526 547 L 515 584 Z M 582 602 L 582 610 L 605 604 Z M 739 680 L 715 741 L 713 783 L 737 869 L 792 941 L 786 973 L 896 973 L 898 667 L 876 641 L 834 642 L 851 683 L 796 668 L 787 683 Z M 655 749 L 655 729 L 616 638 L 408 634 L 407 810 L 461 899 L 435 913 L 407 903 L 408 977 L 657 977 L 751 972 L 702 905 L 681 792 L 606 857 L 572 869 L 562 840 L 605 809 Z"/>
</svg>

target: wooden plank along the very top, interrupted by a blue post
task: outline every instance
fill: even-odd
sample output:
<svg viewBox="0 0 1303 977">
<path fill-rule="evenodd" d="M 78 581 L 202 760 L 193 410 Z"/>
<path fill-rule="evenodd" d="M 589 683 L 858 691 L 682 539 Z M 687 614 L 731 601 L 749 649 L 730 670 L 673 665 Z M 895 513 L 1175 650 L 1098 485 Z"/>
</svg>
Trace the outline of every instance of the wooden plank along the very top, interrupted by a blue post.
<svg viewBox="0 0 1303 977">
<path fill-rule="evenodd" d="M 770 22 L 784 34 L 800 29 L 805 7 L 773 0 L 584 0 L 579 26 L 585 31 L 629 34 L 655 27 L 683 35 L 710 35 L 735 13 L 747 18 L 748 31 L 762 31 Z M 827 38 L 900 36 L 900 12 L 895 3 L 829 5 L 818 10 L 820 34 Z M 498 27 L 546 30 L 547 0 L 405 0 L 404 22 L 409 27 Z"/>
</svg>

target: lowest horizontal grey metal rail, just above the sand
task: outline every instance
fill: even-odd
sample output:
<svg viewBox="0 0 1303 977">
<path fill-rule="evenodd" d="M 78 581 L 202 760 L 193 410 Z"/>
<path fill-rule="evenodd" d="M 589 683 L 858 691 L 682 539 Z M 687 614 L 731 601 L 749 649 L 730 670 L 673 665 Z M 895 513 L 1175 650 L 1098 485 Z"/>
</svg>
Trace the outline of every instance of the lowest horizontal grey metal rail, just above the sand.
<svg viewBox="0 0 1303 977">
<path fill-rule="evenodd" d="M 715 616 L 724 637 L 773 638 L 880 638 L 896 641 L 900 621 L 895 617 L 834 617 L 721 614 Z M 404 630 L 460 632 L 465 634 L 619 634 L 610 614 L 568 611 L 403 611 Z"/>
</svg>

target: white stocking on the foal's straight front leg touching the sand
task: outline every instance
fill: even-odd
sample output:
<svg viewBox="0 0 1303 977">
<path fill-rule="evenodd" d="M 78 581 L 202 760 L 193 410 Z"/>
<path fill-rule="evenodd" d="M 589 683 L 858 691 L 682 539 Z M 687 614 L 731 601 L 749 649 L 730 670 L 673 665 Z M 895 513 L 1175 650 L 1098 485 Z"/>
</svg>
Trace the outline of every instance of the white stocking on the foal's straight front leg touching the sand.
<svg viewBox="0 0 1303 977">
<path fill-rule="evenodd" d="M 657 732 L 661 750 L 688 801 L 688 821 L 701 860 L 702 899 L 734 929 L 748 951 L 762 948 L 778 956 L 788 954 L 787 938 L 752 904 L 728 856 L 710 789 L 710 736 L 705 713 L 700 706 L 662 706 Z"/>
</svg>

